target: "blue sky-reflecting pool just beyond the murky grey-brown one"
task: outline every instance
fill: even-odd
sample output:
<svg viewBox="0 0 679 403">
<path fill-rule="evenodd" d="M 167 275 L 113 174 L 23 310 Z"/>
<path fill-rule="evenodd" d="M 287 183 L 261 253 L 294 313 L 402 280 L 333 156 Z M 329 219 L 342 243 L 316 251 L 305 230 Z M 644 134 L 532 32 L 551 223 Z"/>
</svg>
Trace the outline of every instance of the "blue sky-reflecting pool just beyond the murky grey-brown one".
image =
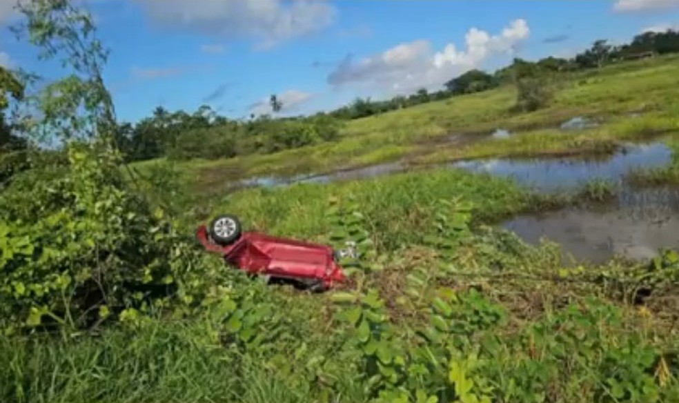
<svg viewBox="0 0 679 403">
<path fill-rule="evenodd" d="M 591 179 L 619 182 L 635 168 L 660 168 L 671 162 L 672 151 L 662 143 L 630 144 L 618 153 L 599 159 L 483 159 L 457 161 L 452 168 L 511 177 L 542 192 L 567 190 Z"/>
</svg>

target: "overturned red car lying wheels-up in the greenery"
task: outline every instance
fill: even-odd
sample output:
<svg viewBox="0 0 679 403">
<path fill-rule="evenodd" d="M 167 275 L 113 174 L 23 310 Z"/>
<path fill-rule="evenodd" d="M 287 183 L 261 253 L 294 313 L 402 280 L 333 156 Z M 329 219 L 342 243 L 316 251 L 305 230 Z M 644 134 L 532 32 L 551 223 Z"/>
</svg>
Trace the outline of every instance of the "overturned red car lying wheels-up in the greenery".
<svg viewBox="0 0 679 403">
<path fill-rule="evenodd" d="M 355 248 L 331 246 L 242 231 L 234 215 L 219 215 L 209 227 L 198 227 L 196 236 L 209 252 L 219 253 L 233 266 L 268 281 L 293 281 L 311 291 L 325 291 L 346 277 L 338 262 L 356 257 Z"/>
</svg>

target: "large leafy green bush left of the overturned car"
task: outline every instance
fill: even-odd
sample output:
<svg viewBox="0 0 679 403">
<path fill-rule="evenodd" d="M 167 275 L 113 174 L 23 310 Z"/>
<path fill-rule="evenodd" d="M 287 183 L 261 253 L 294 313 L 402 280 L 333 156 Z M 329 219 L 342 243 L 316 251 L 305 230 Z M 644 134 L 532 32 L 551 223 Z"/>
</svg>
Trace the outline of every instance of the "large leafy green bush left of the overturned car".
<svg viewBox="0 0 679 403">
<path fill-rule="evenodd" d="M 28 171 L 3 191 L 0 330 L 83 328 L 193 300 L 189 277 L 205 275 L 193 242 L 128 192 L 112 153 L 70 146 L 68 168 Z"/>
</svg>

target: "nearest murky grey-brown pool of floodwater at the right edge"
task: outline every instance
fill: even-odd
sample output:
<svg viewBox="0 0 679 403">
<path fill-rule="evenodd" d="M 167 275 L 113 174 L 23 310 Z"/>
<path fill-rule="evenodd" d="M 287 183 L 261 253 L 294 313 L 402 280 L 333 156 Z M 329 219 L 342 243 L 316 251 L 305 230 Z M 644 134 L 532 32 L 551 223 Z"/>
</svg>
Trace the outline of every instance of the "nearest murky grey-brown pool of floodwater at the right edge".
<svg viewBox="0 0 679 403">
<path fill-rule="evenodd" d="M 558 242 L 576 262 L 651 259 L 660 248 L 679 248 L 679 189 L 626 188 L 609 206 L 521 215 L 501 226 L 531 244 Z"/>
</svg>

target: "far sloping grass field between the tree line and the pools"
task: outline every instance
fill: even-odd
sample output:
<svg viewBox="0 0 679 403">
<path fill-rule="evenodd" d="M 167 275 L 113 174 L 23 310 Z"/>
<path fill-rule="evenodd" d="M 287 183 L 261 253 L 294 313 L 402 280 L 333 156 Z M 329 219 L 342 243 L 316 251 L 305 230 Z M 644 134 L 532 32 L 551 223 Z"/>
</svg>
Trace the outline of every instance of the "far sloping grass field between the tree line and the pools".
<svg viewBox="0 0 679 403">
<path fill-rule="evenodd" d="M 620 136 L 638 139 L 640 135 L 676 128 L 678 59 L 673 56 L 633 61 L 600 71 L 564 75 L 553 101 L 535 112 L 511 112 L 515 89 L 504 86 L 349 121 L 340 139 L 331 143 L 272 155 L 187 161 L 177 166 L 193 190 L 213 193 L 226 182 L 245 177 L 326 172 L 409 156 L 440 161 L 610 150 Z M 629 117 L 633 112 L 648 115 Z M 604 120 L 604 125 L 577 133 L 555 129 L 577 116 L 597 117 Z M 442 145 L 437 144 L 455 134 L 478 134 L 484 138 L 495 128 L 528 133 L 503 141 L 482 141 L 462 150 L 441 149 Z M 143 169 L 163 161 L 146 161 L 135 166 Z"/>
</svg>

